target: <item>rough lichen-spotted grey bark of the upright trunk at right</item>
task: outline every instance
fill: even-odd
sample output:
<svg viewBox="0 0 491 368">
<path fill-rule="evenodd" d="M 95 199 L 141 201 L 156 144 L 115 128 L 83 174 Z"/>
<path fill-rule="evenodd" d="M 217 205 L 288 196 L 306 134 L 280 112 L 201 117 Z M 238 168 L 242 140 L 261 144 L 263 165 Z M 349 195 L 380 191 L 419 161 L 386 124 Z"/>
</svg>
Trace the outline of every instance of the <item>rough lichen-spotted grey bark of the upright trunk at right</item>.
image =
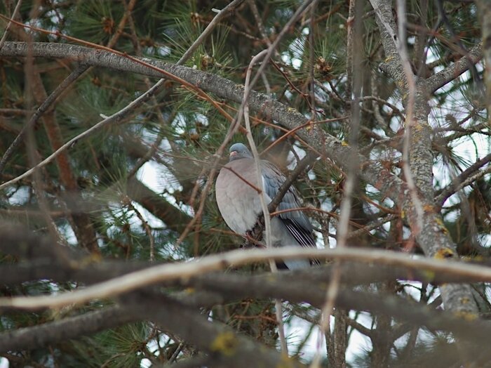
<svg viewBox="0 0 491 368">
<path fill-rule="evenodd" d="M 424 216 L 422 219 L 418 219 L 418 214 L 415 212 L 415 204 L 410 199 L 408 190 L 405 190 L 402 197 L 402 209 L 403 211 L 408 211 L 408 223 L 413 230 L 417 242 L 424 249 L 426 256 L 453 258 L 457 256 L 457 249 L 450 238 L 448 230 L 443 225 L 443 218 L 435 211 L 436 203 L 433 199 L 432 129 L 428 122 L 429 105 L 426 84 L 424 81 L 418 81 L 416 91 L 410 91 L 408 88 L 408 81 L 403 72 L 401 57 L 395 55 L 398 51 L 394 46 L 396 27 L 394 26 L 395 22 L 392 15 L 391 1 L 372 0 L 372 6 L 375 10 L 377 8 L 380 10 L 381 16 L 377 17 L 379 29 L 382 30 L 387 27 L 392 29 L 391 32 L 381 31 L 382 45 L 384 46 L 386 63 L 388 64 L 387 71 L 401 89 L 406 104 L 409 93 L 415 93 L 415 103 L 412 107 L 414 109 L 414 121 L 406 121 L 405 129 L 410 129 L 410 171 L 417 186 L 417 196 L 422 202 Z M 398 41 L 406 42 L 405 39 L 399 39 Z M 423 224 L 422 229 L 419 229 L 418 223 Z M 442 294 L 443 303 L 447 310 L 452 310 L 462 315 L 477 315 L 478 306 L 472 297 L 471 289 L 468 285 L 444 285 L 440 287 L 440 293 Z"/>
</svg>

